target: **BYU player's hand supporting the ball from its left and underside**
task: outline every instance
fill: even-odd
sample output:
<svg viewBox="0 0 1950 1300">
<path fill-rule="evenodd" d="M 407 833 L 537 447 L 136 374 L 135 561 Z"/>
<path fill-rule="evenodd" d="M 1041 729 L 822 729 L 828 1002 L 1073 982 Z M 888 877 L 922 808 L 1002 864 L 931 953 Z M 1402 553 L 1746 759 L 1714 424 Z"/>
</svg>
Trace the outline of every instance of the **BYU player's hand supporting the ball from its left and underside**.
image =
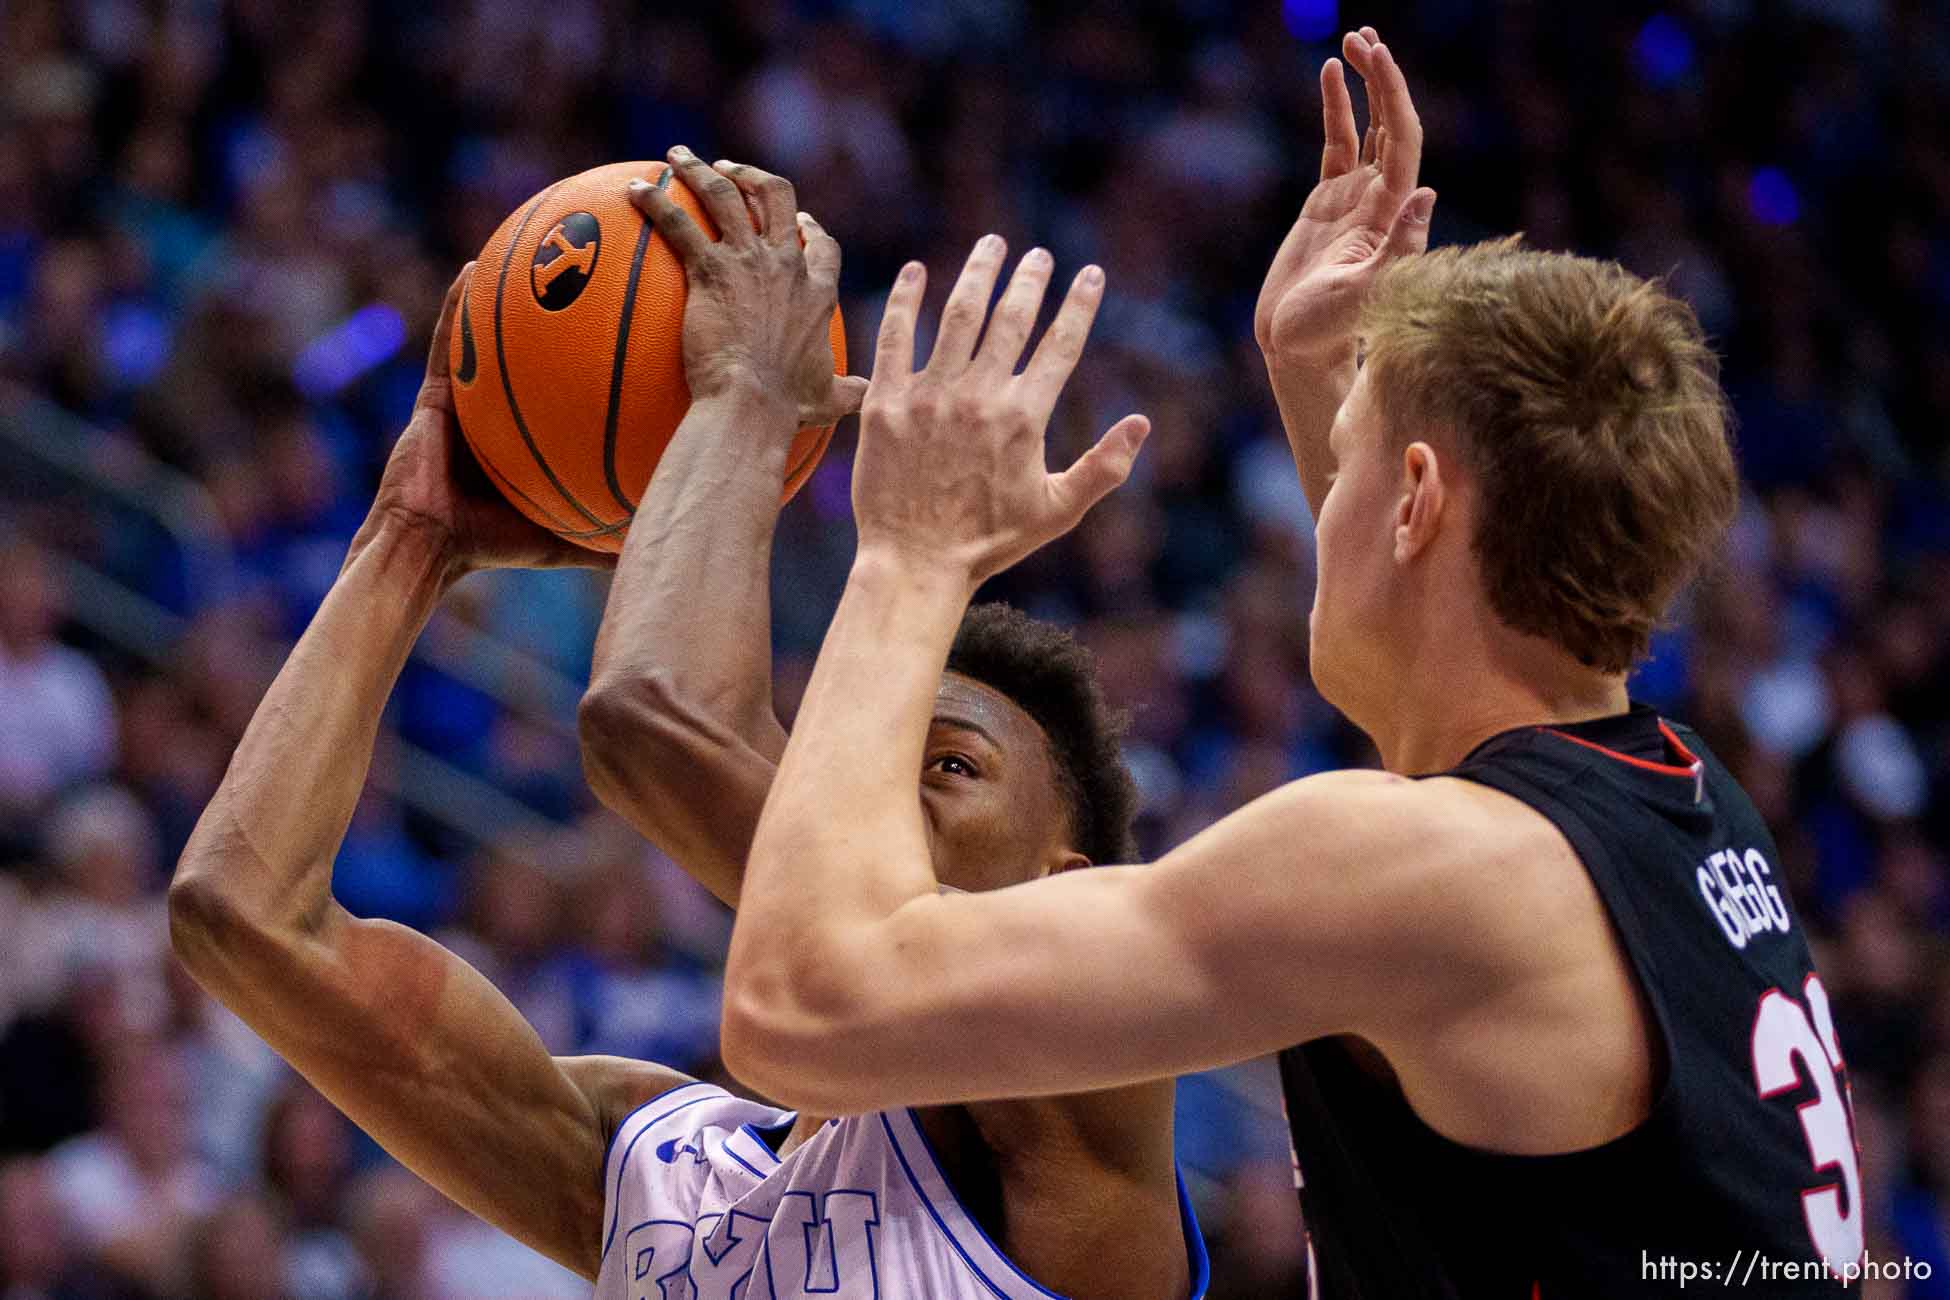
<svg viewBox="0 0 1950 1300">
<path fill-rule="evenodd" d="M 448 341 L 472 271 L 470 261 L 448 285 L 447 300 L 441 302 L 433 345 L 427 349 L 427 376 L 419 384 L 419 396 L 413 398 L 413 413 L 386 458 L 378 493 L 353 538 L 347 563 L 382 526 L 404 526 L 431 534 L 450 577 L 474 569 L 614 565 L 614 555 L 564 542 L 511 507 L 462 444 L 460 425 L 454 419 Z"/>
</svg>

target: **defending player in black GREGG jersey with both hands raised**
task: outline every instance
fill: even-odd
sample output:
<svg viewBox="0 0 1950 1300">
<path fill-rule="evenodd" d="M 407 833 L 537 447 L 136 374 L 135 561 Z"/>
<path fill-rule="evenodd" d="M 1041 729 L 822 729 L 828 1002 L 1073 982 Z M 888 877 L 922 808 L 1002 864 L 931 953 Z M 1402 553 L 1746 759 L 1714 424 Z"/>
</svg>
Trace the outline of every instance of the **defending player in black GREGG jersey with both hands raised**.
<svg viewBox="0 0 1950 1300">
<path fill-rule="evenodd" d="M 1344 55 L 1373 125 L 1330 60 L 1320 183 L 1256 325 L 1316 518 L 1310 670 L 1386 770 L 1293 782 L 1152 865 L 936 891 L 905 785 L 942 649 L 989 575 L 1125 479 L 1145 425 L 1051 474 L 1061 376 L 1016 370 L 1047 257 L 991 314 L 1006 249 L 977 244 L 920 364 L 913 263 L 862 407 L 860 548 L 747 865 L 725 1064 L 848 1113 L 1281 1052 L 1293 1107 L 1332 1049 L 1349 1105 L 1295 1113 L 1295 1144 L 1355 1103 L 1384 1117 L 1361 1134 L 1390 1158 L 1347 1162 L 1346 1189 L 1381 1187 L 1402 1218 L 1359 1249 L 1365 1206 L 1336 1224 L 1322 1294 L 1671 1294 L 1642 1251 L 1673 1245 L 1839 1279 L 1862 1255 L 1860 1181 L 1827 996 L 1769 885 L 1778 850 L 1696 737 L 1626 694 L 1737 501 L 1712 355 L 1617 267 L 1418 257 L 1435 195 L 1408 86 L 1373 29 Z M 1051 337 L 1080 337 L 1102 292 L 1084 269 Z M 1527 598 L 1500 596 L 1492 559 Z M 1437 1181 L 1424 1152 L 1482 1177 Z M 1837 1294 L 1761 1281 L 1747 1294 Z"/>
</svg>

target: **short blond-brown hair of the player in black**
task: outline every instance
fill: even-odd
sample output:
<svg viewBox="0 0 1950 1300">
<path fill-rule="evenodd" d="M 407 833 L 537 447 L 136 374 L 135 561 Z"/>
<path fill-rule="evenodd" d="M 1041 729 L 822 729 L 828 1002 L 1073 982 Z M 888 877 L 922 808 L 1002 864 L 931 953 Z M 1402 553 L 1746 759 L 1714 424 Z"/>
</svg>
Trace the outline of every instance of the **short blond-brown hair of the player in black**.
<svg viewBox="0 0 1950 1300">
<path fill-rule="evenodd" d="M 1615 261 L 1519 238 L 1404 257 L 1361 320 L 1406 442 L 1453 431 L 1490 608 L 1624 672 L 1739 505 L 1720 361 L 1693 308 Z"/>
</svg>

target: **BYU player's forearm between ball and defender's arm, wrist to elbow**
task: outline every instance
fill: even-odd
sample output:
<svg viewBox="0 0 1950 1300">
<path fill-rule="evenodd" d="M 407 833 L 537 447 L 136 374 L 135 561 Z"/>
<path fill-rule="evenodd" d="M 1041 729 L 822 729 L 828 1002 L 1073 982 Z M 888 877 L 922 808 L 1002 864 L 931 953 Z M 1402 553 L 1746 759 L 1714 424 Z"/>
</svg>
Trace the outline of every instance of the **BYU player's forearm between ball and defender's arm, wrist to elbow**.
<svg viewBox="0 0 1950 1300">
<path fill-rule="evenodd" d="M 725 902 L 786 748 L 770 554 L 794 423 L 768 394 L 690 407 L 630 524 L 581 709 L 591 787 Z"/>
</svg>

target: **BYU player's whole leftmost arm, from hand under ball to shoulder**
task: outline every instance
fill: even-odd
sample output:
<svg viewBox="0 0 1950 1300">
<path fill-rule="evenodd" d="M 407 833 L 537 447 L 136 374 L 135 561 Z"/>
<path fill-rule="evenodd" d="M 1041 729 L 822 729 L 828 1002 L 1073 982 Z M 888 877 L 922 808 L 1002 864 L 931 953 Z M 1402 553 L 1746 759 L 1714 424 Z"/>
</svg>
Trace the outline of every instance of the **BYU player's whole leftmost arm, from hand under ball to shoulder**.
<svg viewBox="0 0 1950 1300">
<path fill-rule="evenodd" d="M 464 961 L 332 899 L 386 696 L 447 587 L 595 559 L 501 505 L 458 444 L 447 331 L 464 281 L 372 513 L 183 850 L 170 932 L 191 975 L 402 1164 L 595 1277 L 610 1127 L 682 1076 L 550 1058 Z"/>
</svg>

